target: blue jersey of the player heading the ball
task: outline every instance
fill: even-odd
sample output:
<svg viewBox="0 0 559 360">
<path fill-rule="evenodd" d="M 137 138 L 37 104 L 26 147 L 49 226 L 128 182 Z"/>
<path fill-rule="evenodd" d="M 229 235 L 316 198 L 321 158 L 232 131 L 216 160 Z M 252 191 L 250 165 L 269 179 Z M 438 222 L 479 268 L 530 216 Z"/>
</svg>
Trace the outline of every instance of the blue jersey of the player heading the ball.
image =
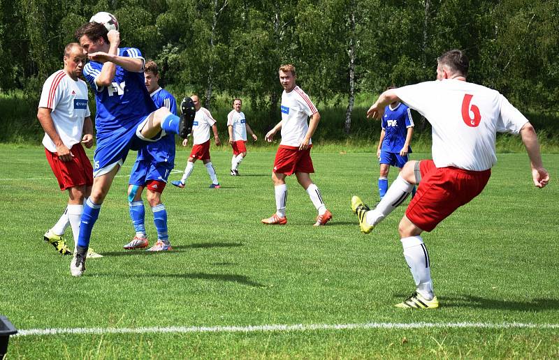
<svg viewBox="0 0 559 360">
<path fill-rule="evenodd" d="M 134 47 L 119 48 L 121 57 L 143 59 Z M 138 126 L 138 119 L 157 110 L 144 83 L 144 73 L 133 73 L 117 66 L 110 87 L 97 87 L 95 78 L 103 63 L 89 61 L 83 69 L 85 80 L 95 93 L 95 128 L 97 142 L 110 142 Z"/>
</svg>

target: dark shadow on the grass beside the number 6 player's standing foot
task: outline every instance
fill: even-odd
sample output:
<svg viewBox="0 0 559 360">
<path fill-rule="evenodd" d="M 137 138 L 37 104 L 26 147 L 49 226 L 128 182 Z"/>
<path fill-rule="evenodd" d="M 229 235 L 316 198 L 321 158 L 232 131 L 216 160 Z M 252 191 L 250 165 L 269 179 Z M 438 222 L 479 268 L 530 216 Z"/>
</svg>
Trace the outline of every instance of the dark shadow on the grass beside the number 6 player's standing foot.
<svg viewBox="0 0 559 360">
<path fill-rule="evenodd" d="M 405 294 L 394 295 L 395 298 L 403 299 Z M 515 310 L 515 311 L 543 311 L 558 310 L 558 299 L 532 299 L 530 301 L 514 301 L 502 299 L 490 299 L 463 295 L 458 297 L 438 297 L 441 308 L 481 308 L 495 310 Z"/>
</svg>

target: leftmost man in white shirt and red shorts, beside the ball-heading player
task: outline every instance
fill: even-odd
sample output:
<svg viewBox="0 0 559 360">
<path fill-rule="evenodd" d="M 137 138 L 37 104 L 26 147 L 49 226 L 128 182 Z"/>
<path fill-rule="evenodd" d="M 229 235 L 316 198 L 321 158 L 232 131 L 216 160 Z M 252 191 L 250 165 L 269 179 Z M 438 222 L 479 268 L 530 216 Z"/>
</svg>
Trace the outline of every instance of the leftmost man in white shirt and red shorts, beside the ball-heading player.
<svg viewBox="0 0 559 360">
<path fill-rule="evenodd" d="M 58 222 L 45 233 L 63 255 L 71 254 L 63 235 L 71 225 L 74 242 L 80 233 L 83 201 L 93 184 L 93 167 L 82 144 L 93 146 L 93 123 L 87 104 L 87 84 L 80 80 L 85 54 L 78 43 L 64 48 L 64 69 L 50 75 L 43 84 L 37 118 L 45 130 L 43 145 L 60 190 L 68 190 L 68 206 Z"/>
</svg>

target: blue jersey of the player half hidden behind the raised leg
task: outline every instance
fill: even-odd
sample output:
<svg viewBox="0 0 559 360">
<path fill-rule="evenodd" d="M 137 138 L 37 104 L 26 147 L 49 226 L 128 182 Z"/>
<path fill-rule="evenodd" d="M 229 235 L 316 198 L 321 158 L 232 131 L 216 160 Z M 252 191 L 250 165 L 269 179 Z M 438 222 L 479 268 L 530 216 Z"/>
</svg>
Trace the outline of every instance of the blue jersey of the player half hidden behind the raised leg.
<svg viewBox="0 0 559 360">
<path fill-rule="evenodd" d="M 157 89 L 151 94 L 155 106 L 166 107 L 171 114 L 177 112 L 177 101 L 165 89 Z M 146 147 L 138 150 L 138 160 L 152 160 L 155 163 L 168 163 L 173 166 L 175 162 L 175 135 L 167 134 L 157 142 L 150 142 Z"/>
</svg>

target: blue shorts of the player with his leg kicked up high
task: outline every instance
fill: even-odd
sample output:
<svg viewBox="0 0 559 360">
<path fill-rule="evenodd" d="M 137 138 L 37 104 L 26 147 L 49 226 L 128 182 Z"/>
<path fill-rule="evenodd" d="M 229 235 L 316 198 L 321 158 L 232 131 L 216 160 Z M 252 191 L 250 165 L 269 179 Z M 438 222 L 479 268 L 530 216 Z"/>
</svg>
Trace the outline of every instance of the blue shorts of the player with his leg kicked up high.
<svg viewBox="0 0 559 360">
<path fill-rule="evenodd" d="M 138 150 L 145 147 L 150 142 L 155 142 L 165 135 L 162 131 L 153 139 L 146 139 L 140 133 L 151 114 L 138 119 L 136 126 L 129 129 L 122 129 L 112 136 L 97 139 L 97 146 L 93 156 L 93 176 L 99 177 L 112 170 L 115 165 L 122 165 L 128 151 Z"/>
</svg>

